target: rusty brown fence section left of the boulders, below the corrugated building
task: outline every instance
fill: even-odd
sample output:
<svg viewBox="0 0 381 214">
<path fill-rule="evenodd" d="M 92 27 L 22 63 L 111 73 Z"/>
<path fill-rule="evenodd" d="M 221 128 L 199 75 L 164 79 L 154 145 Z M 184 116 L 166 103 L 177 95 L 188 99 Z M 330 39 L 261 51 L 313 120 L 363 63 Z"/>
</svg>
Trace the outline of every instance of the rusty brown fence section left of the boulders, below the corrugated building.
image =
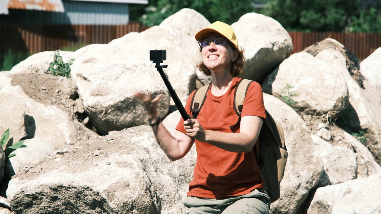
<svg viewBox="0 0 381 214">
<path fill-rule="evenodd" d="M 64 47 L 72 50 L 89 44 L 106 44 L 130 32 L 148 29 L 139 23 L 126 25 L 22 25 L 0 19 L 0 62 L 8 49 L 14 53 L 55 51 Z M 1 66 L 0 66 L 1 67 Z"/>
</svg>

